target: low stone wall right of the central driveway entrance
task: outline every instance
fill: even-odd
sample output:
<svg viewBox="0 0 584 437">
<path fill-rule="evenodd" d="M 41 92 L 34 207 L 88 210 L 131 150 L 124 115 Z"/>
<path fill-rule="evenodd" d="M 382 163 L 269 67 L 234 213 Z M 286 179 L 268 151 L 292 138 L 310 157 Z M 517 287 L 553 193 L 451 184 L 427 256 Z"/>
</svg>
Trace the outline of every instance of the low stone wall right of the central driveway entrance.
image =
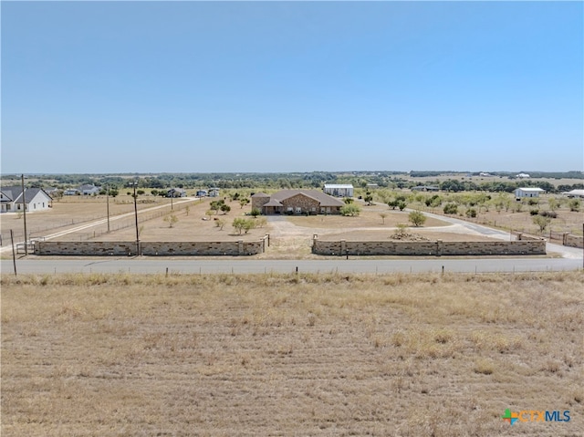
<svg viewBox="0 0 584 437">
<path fill-rule="evenodd" d="M 313 240 L 317 255 L 546 255 L 546 242 L 494 241 L 321 241 Z"/>
</svg>

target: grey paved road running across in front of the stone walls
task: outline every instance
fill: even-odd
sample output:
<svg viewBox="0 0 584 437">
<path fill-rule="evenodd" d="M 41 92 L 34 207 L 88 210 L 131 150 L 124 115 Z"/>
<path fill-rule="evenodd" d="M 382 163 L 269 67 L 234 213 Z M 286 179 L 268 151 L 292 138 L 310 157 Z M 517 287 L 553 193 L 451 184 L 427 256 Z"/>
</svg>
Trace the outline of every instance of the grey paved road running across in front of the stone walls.
<svg viewBox="0 0 584 437">
<path fill-rule="evenodd" d="M 169 258 L 94 258 L 94 259 L 20 259 L 16 260 L 19 274 L 51 273 L 137 273 L 212 274 L 212 273 L 422 273 L 445 272 L 536 272 L 576 270 L 582 260 L 570 258 L 480 258 L 480 259 L 336 259 L 323 260 L 255 260 L 227 259 L 169 259 Z M 0 261 L 2 273 L 14 273 L 12 260 Z"/>
</svg>

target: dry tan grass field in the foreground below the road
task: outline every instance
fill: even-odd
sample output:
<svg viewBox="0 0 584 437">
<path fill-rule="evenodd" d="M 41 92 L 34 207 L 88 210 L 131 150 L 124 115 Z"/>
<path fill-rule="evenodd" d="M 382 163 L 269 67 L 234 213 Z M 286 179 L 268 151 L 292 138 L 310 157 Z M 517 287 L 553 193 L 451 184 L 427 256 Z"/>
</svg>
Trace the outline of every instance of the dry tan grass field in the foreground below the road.
<svg viewBox="0 0 584 437">
<path fill-rule="evenodd" d="M 584 432 L 581 272 L 1 286 L 6 437 Z"/>
</svg>

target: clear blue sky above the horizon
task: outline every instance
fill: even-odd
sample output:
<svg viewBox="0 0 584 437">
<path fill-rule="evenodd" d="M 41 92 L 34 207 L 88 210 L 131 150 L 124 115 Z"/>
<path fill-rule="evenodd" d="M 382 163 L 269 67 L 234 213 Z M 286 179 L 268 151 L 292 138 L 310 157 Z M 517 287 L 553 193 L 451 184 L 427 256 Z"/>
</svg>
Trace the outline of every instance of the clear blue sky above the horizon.
<svg viewBox="0 0 584 437">
<path fill-rule="evenodd" d="M 584 167 L 582 2 L 1 2 L 3 173 Z"/>
</svg>

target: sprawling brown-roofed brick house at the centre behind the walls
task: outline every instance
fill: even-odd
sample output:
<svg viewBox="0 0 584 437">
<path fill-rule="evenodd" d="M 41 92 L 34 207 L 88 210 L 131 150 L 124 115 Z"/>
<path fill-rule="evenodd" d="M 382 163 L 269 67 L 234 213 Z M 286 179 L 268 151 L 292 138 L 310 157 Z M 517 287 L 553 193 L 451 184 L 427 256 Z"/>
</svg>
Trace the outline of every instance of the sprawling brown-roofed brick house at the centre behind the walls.
<svg viewBox="0 0 584 437">
<path fill-rule="evenodd" d="M 340 213 L 345 203 L 317 190 L 282 190 L 274 194 L 256 192 L 252 196 L 252 209 L 265 215 Z"/>
</svg>

